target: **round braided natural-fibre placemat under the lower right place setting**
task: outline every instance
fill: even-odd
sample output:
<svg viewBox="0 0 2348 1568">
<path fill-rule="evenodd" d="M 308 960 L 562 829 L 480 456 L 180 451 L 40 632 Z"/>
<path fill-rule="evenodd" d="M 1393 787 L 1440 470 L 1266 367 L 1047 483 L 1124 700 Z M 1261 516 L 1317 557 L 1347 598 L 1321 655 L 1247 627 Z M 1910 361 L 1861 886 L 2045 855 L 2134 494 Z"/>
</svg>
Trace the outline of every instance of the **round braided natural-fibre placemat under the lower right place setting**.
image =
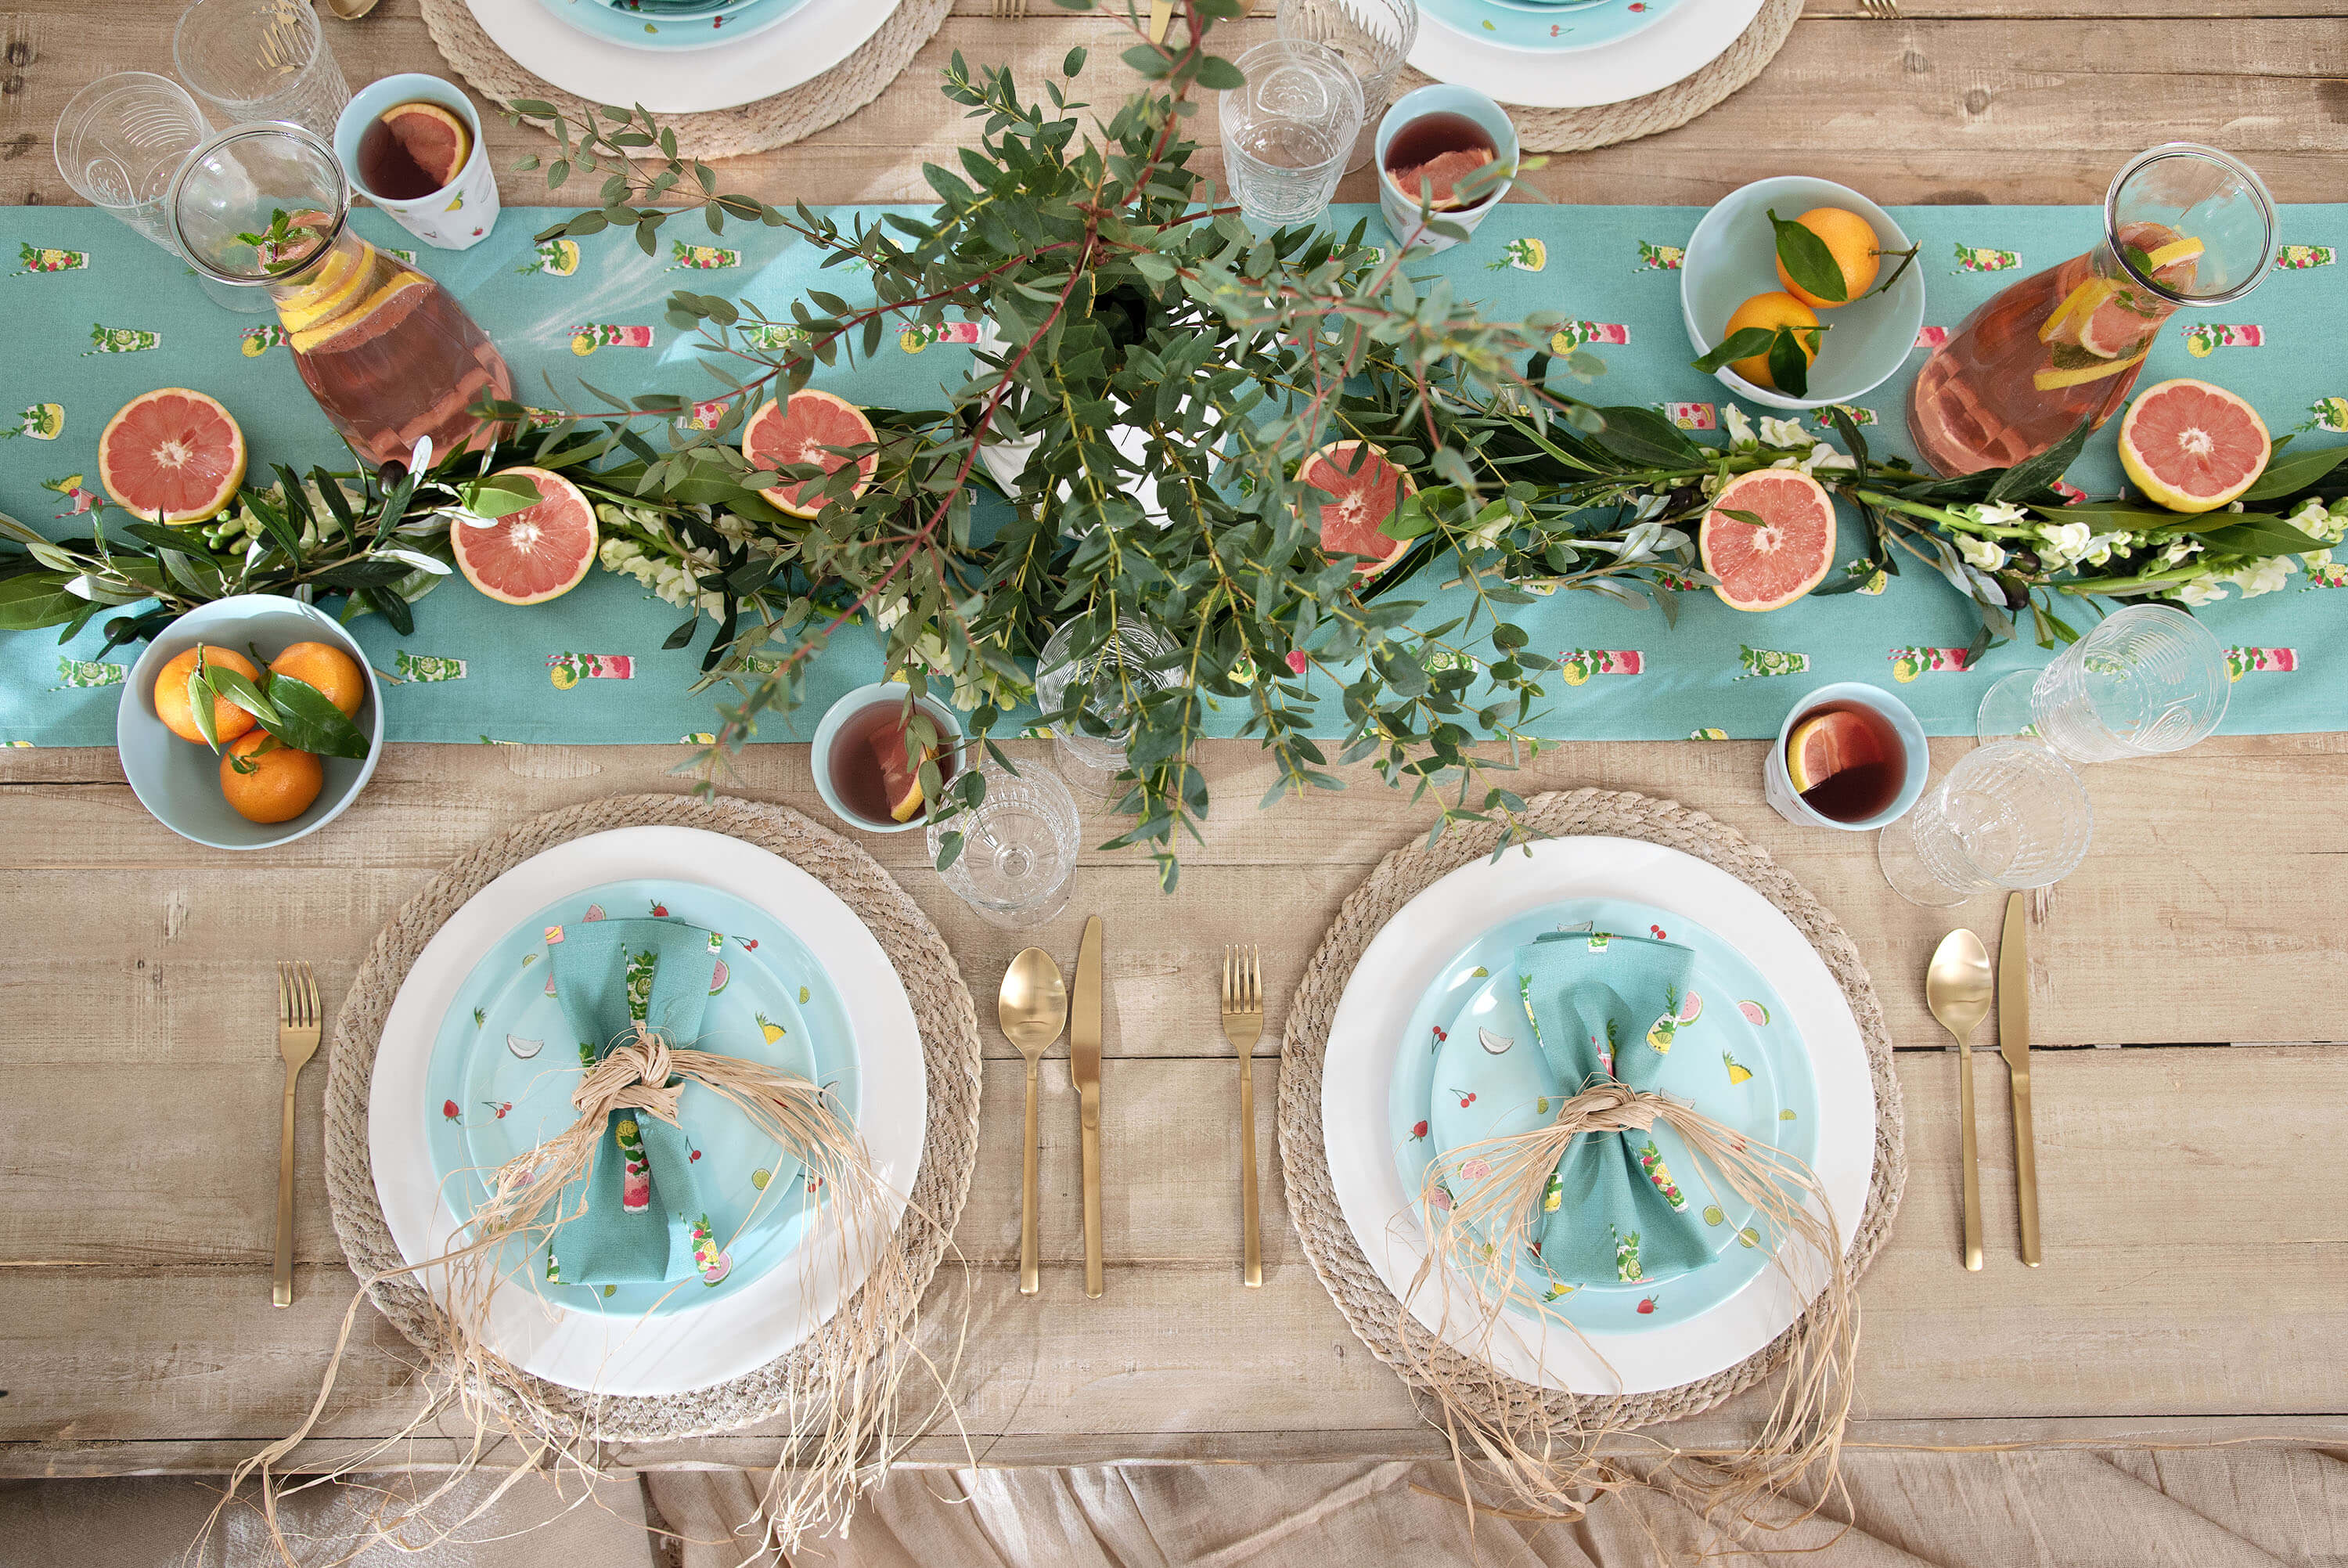
<svg viewBox="0 0 2348 1568">
<path fill-rule="evenodd" d="M 1691 812 L 1676 800 L 1618 793 L 1604 789 L 1576 789 L 1571 793 L 1533 796 L 1524 812 L 1526 824 L 1543 836 L 1611 836 L 1641 838 L 1646 843 L 1684 850 L 1707 859 L 1728 876 L 1749 885 L 1775 904 L 1794 922 L 1817 955 L 1827 962 L 1850 1012 L 1860 1021 L 1860 1038 L 1867 1042 L 1867 1066 L 1876 1084 L 1876 1164 L 1867 1185 L 1867 1211 L 1860 1216 L 1850 1239 L 1846 1263 L 1853 1282 L 1874 1261 L 1876 1249 L 1890 1235 L 1892 1214 L 1900 1211 L 1900 1190 L 1907 1185 L 1907 1155 L 1902 1153 L 1900 1080 L 1892 1077 L 1890 1028 L 1883 1023 L 1883 1007 L 1876 988 L 1867 979 L 1860 951 L 1853 946 L 1834 915 L 1810 897 L 1810 892 L 1787 876 L 1777 861 L 1742 833 L 1728 829 L 1702 812 Z M 1352 890 L 1338 908 L 1329 934 L 1305 967 L 1296 1000 L 1289 1005 L 1289 1028 L 1280 1042 L 1280 1167 L 1289 1183 L 1289 1216 L 1296 1235 L 1305 1244 L 1313 1272 L 1322 1277 L 1336 1298 L 1338 1312 L 1352 1331 L 1369 1345 L 1371 1354 L 1392 1366 L 1413 1387 L 1425 1390 L 1411 1373 L 1411 1357 L 1432 1359 L 1439 1376 L 1451 1380 L 1451 1399 L 1468 1415 L 1500 1425 L 1503 1401 L 1510 1408 L 1547 1406 L 1547 1415 L 1559 1427 L 1601 1430 L 1637 1427 L 1658 1420 L 1679 1420 L 1709 1411 L 1719 1401 L 1738 1394 L 1777 1366 L 1794 1340 L 1789 1326 L 1766 1347 L 1745 1361 L 1709 1378 L 1681 1383 L 1679 1387 L 1651 1394 L 1625 1397 L 1573 1397 L 1557 1390 L 1533 1387 L 1496 1376 L 1482 1361 L 1470 1361 L 1446 1345 L 1432 1345 L 1404 1354 L 1397 1324 L 1402 1303 L 1395 1300 L 1385 1282 L 1362 1256 L 1359 1242 L 1345 1225 L 1345 1214 L 1336 1204 L 1329 1185 L 1329 1150 L 1322 1143 L 1322 1059 L 1329 1047 L 1329 1021 L 1336 1016 L 1338 998 L 1352 967 L 1371 937 L 1435 880 L 1460 866 L 1489 859 L 1500 843 L 1500 824 L 1475 824 L 1453 829 L 1439 840 L 1425 840 L 1395 850 L 1369 880 Z"/>
</svg>

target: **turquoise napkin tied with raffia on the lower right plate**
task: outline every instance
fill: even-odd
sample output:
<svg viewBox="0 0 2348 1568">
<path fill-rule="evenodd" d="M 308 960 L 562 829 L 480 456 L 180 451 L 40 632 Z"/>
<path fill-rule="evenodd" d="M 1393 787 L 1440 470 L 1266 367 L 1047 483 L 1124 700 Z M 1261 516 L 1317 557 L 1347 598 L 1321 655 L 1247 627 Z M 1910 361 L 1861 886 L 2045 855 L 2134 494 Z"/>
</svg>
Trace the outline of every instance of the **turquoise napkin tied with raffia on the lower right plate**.
<svg viewBox="0 0 2348 1568">
<path fill-rule="evenodd" d="M 1524 1028 L 1463 1026 L 1442 1042 L 1437 1150 L 1543 1127 L 1566 1096 L 1599 1082 L 1653 1089 L 1674 1040 L 1702 1014 L 1693 976 L 1688 948 L 1646 937 L 1557 932 L 1517 948 Z M 1543 1195 L 1540 1268 L 1566 1284 L 1655 1284 L 1709 1263 L 1705 1225 L 1669 1167 L 1686 1164 L 1684 1148 L 1660 1124 L 1578 1136 Z M 1475 1181 L 1475 1164 L 1456 1178 Z"/>
</svg>

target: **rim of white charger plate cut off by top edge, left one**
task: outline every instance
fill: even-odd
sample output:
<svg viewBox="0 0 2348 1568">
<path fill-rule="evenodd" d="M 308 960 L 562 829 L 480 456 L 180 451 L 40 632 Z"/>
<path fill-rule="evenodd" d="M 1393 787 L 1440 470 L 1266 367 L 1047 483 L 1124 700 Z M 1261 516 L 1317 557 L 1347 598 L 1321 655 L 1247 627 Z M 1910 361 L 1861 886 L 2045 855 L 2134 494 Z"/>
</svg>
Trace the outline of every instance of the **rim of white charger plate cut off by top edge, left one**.
<svg viewBox="0 0 2348 1568">
<path fill-rule="evenodd" d="M 465 7 L 491 42 L 564 92 L 643 103 L 655 115 L 695 115 L 812 82 L 862 49 L 897 0 L 808 0 L 770 28 L 707 49 L 632 49 L 589 38 L 547 16 L 538 0 L 465 0 Z"/>
</svg>

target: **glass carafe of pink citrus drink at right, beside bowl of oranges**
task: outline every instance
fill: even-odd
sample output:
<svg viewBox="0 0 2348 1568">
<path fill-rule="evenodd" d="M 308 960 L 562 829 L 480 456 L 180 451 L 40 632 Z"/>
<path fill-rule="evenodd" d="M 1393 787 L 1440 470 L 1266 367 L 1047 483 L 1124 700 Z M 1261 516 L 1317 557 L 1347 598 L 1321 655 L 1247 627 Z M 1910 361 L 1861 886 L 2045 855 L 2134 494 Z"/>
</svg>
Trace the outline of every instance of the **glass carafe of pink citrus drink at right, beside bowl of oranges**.
<svg viewBox="0 0 2348 1568">
<path fill-rule="evenodd" d="M 2256 174 L 2184 141 L 2137 155 L 2104 197 L 2101 244 L 1991 298 L 1916 371 L 1916 451 L 1972 474 L 2101 425 L 2179 305 L 2242 298 L 2273 258 L 2275 204 Z"/>
</svg>

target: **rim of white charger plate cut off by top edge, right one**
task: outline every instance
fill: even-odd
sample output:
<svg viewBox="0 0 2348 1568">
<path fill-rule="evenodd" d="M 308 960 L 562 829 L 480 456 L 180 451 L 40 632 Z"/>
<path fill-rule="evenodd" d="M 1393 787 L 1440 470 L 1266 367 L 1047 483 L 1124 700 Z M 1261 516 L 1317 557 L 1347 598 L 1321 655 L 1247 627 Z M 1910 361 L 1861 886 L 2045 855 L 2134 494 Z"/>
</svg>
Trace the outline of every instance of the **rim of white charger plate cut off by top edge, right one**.
<svg viewBox="0 0 2348 1568">
<path fill-rule="evenodd" d="M 481 2 L 474 0 L 474 7 Z M 1423 14 L 1411 63 L 1437 82 L 1463 82 L 1500 103 L 1597 108 L 1684 82 L 1719 59 L 1759 14 L 1761 0 L 1681 0 L 1641 33 L 1571 54 L 1510 49 Z"/>
</svg>

